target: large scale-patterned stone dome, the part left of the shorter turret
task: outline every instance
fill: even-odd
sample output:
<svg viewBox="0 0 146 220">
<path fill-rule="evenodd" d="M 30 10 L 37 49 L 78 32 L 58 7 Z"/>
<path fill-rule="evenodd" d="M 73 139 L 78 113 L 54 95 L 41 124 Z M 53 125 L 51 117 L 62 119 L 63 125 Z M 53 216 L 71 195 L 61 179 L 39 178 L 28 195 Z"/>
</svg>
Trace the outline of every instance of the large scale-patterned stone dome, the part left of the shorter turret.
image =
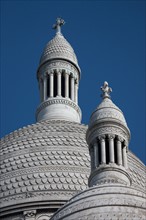
<svg viewBox="0 0 146 220">
<path fill-rule="evenodd" d="M 86 126 L 45 120 L 1 139 L 1 211 L 60 207 L 86 189 Z M 23 204 L 23 205 L 22 205 Z"/>
</svg>

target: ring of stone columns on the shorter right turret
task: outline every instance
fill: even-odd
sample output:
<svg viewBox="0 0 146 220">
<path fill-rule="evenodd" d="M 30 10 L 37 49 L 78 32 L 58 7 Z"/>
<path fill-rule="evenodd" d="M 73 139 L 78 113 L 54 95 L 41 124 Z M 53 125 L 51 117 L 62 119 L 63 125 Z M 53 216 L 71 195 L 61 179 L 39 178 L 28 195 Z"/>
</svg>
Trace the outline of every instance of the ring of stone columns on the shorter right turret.
<svg viewBox="0 0 146 220">
<path fill-rule="evenodd" d="M 126 169 L 127 165 L 127 146 L 121 137 L 117 135 L 102 135 L 94 142 L 90 149 L 91 169 L 95 169 L 100 164 L 116 163 Z"/>
</svg>

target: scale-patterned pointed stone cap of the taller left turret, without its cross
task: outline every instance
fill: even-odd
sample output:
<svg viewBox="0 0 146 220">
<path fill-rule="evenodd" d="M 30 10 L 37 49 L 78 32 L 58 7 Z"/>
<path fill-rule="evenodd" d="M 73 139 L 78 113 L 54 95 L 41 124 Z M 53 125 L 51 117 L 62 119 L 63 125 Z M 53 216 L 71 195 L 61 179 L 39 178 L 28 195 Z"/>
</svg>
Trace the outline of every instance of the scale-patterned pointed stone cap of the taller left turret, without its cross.
<svg viewBox="0 0 146 220">
<path fill-rule="evenodd" d="M 70 61 L 80 70 L 73 48 L 61 33 L 57 33 L 45 46 L 40 59 L 40 65 L 52 59 Z"/>
</svg>

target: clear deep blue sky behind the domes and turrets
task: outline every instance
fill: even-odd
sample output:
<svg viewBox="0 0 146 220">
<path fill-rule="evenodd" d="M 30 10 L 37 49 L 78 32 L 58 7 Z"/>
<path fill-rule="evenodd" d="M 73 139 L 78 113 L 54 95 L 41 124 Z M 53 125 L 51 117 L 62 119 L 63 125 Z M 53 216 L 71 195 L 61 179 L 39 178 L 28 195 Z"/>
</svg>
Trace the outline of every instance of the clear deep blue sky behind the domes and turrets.
<svg viewBox="0 0 146 220">
<path fill-rule="evenodd" d="M 145 161 L 145 1 L 1 1 L 1 136 L 35 123 L 36 70 L 58 16 L 82 70 L 79 105 L 88 124 L 100 86 L 131 130 L 129 148 Z"/>
</svg>

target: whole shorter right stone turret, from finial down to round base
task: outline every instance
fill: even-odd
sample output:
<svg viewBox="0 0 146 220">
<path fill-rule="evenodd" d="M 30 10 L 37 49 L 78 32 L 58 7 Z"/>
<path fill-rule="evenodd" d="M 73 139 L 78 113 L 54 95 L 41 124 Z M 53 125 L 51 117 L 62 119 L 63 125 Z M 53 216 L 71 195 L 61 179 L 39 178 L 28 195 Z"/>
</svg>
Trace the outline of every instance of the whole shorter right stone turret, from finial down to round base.
<svg viewBox="0 0 146 220">
<path fill-rule="evenodd" d="M 86 140 L 91 156 L 89 186 L 101 183 L 130 185 L 127 152 L 130 131 L 122 111 L 111 101 L 107 82 L 102 102 L 92 113 Z"/>
</svg>

